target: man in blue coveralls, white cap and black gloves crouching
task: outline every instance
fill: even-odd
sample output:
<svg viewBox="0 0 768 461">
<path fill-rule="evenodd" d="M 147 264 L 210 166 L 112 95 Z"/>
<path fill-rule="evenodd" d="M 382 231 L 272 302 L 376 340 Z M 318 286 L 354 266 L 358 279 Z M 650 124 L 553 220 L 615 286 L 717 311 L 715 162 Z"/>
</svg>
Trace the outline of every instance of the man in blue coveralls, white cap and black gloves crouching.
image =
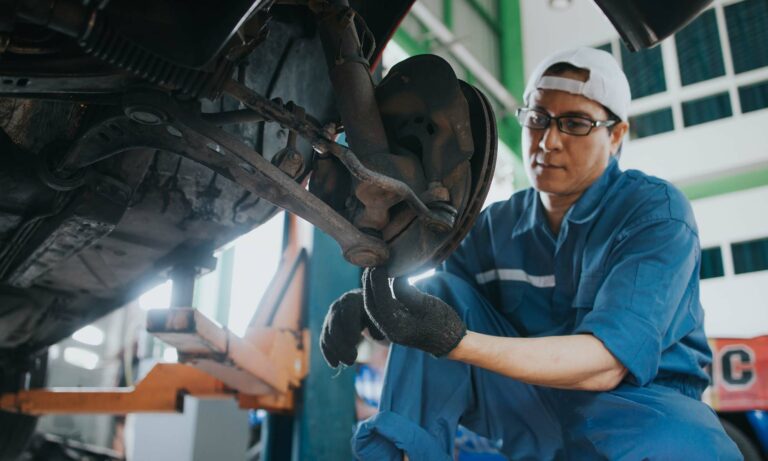
<svg viewBox="0 0 768 461">
<path fill-rule="evenodd" d="M 618 166 L 626 76 L 603 51 L 557 53 L 524 102 L 533 187 L 484 210 L 423 292 L 369 268 L 362 295 L 331 306 L 332 366 L 354 361 L 365 327 L 395 343 L 356 455 L 450 460 L 461 423 L 516 460 L 741 459 L 700 400 L 711 352 L 690 204 Z"/>
</svg>

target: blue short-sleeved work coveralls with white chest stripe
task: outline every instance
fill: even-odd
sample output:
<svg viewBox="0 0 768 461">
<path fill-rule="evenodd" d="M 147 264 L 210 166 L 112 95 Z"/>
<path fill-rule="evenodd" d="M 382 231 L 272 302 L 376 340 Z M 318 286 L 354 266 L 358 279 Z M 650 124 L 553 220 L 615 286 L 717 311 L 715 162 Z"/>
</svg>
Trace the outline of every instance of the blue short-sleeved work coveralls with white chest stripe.
<svg viewBox="0 0 768 461">
<path fill-rule="evenodd" d="M 700 249 L 685 197 L 611 160 L 550 229 L 538 193 L 491 205 L 419 287 L 471 331 L 592 334 L 627 368 L 609 392 L 534 386 L 393 345 L 380 413 L 361 459 L 450 460 L 456 426 L 511 459 L 741 459 L 700 401 L 711 352 L 699 301 Z"/>
</svg>

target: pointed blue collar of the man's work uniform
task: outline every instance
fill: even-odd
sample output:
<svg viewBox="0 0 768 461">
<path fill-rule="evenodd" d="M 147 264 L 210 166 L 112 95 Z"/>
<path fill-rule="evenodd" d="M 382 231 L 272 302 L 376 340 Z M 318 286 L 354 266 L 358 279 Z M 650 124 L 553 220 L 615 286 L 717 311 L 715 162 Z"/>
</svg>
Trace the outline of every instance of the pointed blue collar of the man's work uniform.
<svg viewBox="0 0 768 461">
<path fill-rule="evenodd" d="M 619 170 L 619 162 L 615 157 L 611 157 L 603 174 L 600 175 L 597 181 L 589 186 L 586 191 L 584 191 L 584 194 L 582 194 L 571 209 L 568 210 L 565 219 L 577 224 L 592 219 L 601 208 L 599 205 L 605 198 L 606 192 L 616 182 L 616 179 L 620 174 L 621 170 Z M 525 213 L 518 219 L 515 228 L 512 230 L 512 237 L 516 237 L 523 232 L 529 231 L 536 225 L 547 225 L 544 205 L 541 203 L 539 193 L 535 189 L 528 189 L 525 204 Z"/>
</svg>

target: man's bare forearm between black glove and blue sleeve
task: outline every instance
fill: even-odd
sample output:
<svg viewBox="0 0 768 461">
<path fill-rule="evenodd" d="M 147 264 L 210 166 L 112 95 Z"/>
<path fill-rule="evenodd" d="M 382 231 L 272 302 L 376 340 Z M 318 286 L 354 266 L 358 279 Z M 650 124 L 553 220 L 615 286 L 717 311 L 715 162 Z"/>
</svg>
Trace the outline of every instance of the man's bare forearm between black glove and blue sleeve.
<svg viewBox="0 0 768 461">
<path fill-rule="evenodd" d="M 592 335 L 505 338 L 468 332 L 448 358 L 529 384 L 603 391 L 627 371 Z"/>
</svg>

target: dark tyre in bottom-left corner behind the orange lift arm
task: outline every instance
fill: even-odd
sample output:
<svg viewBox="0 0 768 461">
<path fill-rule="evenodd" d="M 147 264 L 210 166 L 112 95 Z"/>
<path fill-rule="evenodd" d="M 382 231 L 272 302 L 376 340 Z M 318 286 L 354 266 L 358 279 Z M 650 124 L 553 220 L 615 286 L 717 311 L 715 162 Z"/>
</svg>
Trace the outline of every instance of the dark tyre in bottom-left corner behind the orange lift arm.
<svg viewBox="0 0 768 461">
<path fill-rule="evenodd" d="M 47 354 L 30 358 L 27 363 L 5 363 L 0 368 L 0 391 L 16 392 L 45 385 Z M 27 375 L 29 374 L 29 375 Z M 28 378 L 27 378 L 28 376 Z M 37 418 L 0 411 L 0 461 L 14 461 L 21 456 L 35 433 Z"/>
</svg>

